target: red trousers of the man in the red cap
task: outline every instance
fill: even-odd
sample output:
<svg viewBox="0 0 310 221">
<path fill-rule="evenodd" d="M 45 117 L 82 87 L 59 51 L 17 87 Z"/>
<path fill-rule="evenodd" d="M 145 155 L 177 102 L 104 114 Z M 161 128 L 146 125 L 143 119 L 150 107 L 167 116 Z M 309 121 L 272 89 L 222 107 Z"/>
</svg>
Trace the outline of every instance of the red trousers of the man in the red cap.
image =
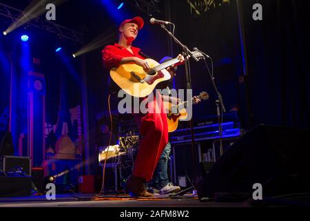
<svg viewBox="0 0 310 221">
<path fill-rule="evenodd" d="M 143 177 L 147 182 L 152 179 L 161 153 L 168 143 L 167 115 L 163 110 L 163 100 L 154 98 L 148 107 L 156 108 L 157 111 L 145 115 L 134 114 L 143 139 L 140 140 L 132 172 L 132 175 Z"/>
</svg>

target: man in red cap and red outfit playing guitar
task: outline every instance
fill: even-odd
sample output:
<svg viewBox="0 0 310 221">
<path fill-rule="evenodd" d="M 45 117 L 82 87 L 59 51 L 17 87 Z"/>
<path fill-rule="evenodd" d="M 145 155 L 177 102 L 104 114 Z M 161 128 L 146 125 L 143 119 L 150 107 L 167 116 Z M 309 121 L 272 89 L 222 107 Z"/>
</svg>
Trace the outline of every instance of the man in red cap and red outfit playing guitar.
<svg viewBox="0 0 310 221">
<path fill-rule="evenodd" d="M 118 28 L 118 43 L 105 46 L 102 51 L 105 68 L 111 69 L 122 64 L 136 64 L 145 72 L 149 70 L 149 64 L 145 61 L 140 48 L 132 46 L 132 42 L 138 36 L 138 31 L 143 28 L 143 19 L 134 17 L 126 19 Z M 154 96 L 156 97 L 156 96 Z M 163 109 L 162 99 L 156 99 L 148 103 L 153 110 Z M 143 139 L 139 143 L 138 153 L 134 162 L 132 175 L 126 182 L 126 190 L 136 197 L 154 197 L 147 192 L 145 182 L 152 179 L 152 175 L 161 157 L 163 148 L 168 143 L 168 128 L 165 111 L 158 113 L 134 113 L 134 118 L 140 127 L 140 135 Z"/>
</svg>

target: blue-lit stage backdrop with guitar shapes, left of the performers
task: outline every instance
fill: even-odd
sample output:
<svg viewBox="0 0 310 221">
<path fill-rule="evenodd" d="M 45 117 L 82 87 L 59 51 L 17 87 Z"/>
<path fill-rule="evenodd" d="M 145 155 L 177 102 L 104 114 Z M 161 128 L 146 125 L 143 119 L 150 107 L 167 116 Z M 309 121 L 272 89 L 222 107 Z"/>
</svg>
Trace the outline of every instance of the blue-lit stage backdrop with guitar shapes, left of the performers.
<svg viewBox="0 0 310 221">
<path fill-rule="evenodd" d="M 23 42 L 22 32 L 0 38 L 0 131 L 11 129 L 14 155 L 30 156 L 45 175 L 68 171 L 56 182 L 77 184 L 87 141 L 81 60 L 71 52 L 81 46 L 37 28 L 28 28 L 30 39 Z M 63 50 L 55 52 L 59 44 Z"/>
</svg>

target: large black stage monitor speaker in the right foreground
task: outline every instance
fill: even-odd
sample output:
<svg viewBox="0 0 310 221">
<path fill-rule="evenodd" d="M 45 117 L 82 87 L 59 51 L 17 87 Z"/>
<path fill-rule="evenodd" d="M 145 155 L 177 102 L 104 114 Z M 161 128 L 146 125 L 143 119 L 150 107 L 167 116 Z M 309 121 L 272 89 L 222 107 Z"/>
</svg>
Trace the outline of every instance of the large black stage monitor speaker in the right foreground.
<svg viewBox="0 0 310 221">
<path fill-rule="evenodd" d="M 264 196 L 310 192 L 310 131 L 259 125 L 240 137 L 198 183 L 198 197 L 216 193 Z"/>
</svg>

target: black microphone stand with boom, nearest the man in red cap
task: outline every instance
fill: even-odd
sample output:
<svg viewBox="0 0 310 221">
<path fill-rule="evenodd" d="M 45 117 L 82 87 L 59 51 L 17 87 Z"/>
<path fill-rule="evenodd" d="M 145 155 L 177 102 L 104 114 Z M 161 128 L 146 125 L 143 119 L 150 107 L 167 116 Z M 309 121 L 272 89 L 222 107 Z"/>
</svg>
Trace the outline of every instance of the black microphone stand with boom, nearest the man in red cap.
<svg viewBox="0 0 310 221">
<path fill-rule="evenodd" d="M 176 41 L 176 43 L 178 45 L 180 45 L 183 48 L 183 56 L 185 57 L 185 76 L 186 76 L 186 80 L 187 80 L 187 89 L 191 90 L 192 89 L 192 81 L 191 81 L 191 72 L 190 72 L 190 67 L 189 67 L 189 59 L 188 59 L 188 55 L 191 56 L 195 61 L 199 61 L 197 57 L 195 57 L 195 55 L 193 54 L 193 52 L 191 52 L 187 46 L 185 46 L 184 44 L 182 44 L 173 34 L 172 32 L 170 32 L 169 30 L 167 30 L 167 28 L 165 27 L 165 24 L 161 24 L 161 28 L 163 28 L 163 30 L 165 30 L 168 35 L 170 37 L 172 37 L 172 39 L 174 39 L 174 41 Z M 188 99 L 188 98 L 187 98 Z M 193 129 L 193 121 L 192 118 L 190 119 L 190 129 L 191 129 L 191 134 L 192 134 L 192 158 L 193 158 L 193 164 L 194 164 L 194 173 L 197 173 L 197 168 L 196 168 L 196 157 L 195 157 L 195 148 L 194 148 L 194 129 Z M 170 196 L 176 196 L 176 195 L 184 195 L 185 193 L 187 193 L 188 191 L 195 189 L 194 186 L 189 187 L 188 189 L 185 189 L 184 191 L 180 191 L 178 193 L 174 193 L 171 194 Z"/>
</svg>

